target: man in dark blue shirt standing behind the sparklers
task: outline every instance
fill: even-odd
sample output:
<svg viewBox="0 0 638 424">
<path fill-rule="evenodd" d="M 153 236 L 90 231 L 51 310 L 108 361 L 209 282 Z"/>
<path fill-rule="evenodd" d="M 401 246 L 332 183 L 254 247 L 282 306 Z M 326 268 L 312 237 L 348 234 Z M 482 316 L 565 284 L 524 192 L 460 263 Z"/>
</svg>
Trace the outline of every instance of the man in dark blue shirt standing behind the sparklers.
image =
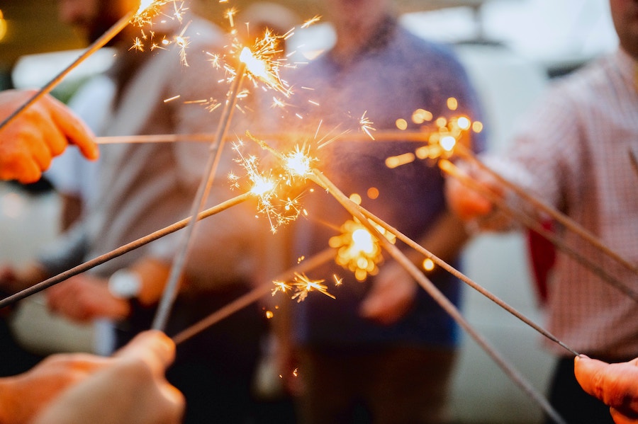
<svg viewBox="0 0 638 424">
<path fill-rule="evenodd" d="M 377 131 L 410 122 L 415 110 L 477 120 L 477 99 L 466 72 L 444 45 L 423 40 L 398 24 L 390 0 L 328 0 L 334 47 L 286 76 L 294 91 L 286 129 L 355 134 L 359 118 Z M 449 98 L 458 109 L 451 111 Z M 302 117 L 303 119 L 298 119 Z M 425 122 L 432 124 L 432 122 Z M 420 130 L 410 123 L 407 130 Z M 374 132 L 372 134 L 374 136 Z M 481 134 L 471 140 L 475 149 Z M 316 167 L 346 195 L 397 227 L 440 258 L 456 257 L 467 234 L 449 214 L 443 177 L 431 161 L 417 159 L 388 168 L 386 158 L 414 152 L 413 142 L 349 142 L 347 136 L 312 149 Z M 293 224 L 293 255 L 306 258 L 328 247 L 331 236 L 352 219 L 325 190 L 303 197 L 308 219 Z M 424 259 L 400 246 L 410 260 Z M 438 423 L 457 350 L 457 325 L 408 273 L 386 257 L 378 275 L 364 282 L 330 263 L 308 276 L 342 285 L 336 299 L 310 293 L 291 305 L 289 340 L 282 360 L 298 366 L 298 408 L 303 423 Z M 455 304 L 459 282 L 444 270 L 428 277 Z M 326 283 L 329 284 L 329 283 Z M 286 374 L 288 375 L 288 374 Z M 358 421 L 357 421 L 358 422 Z"/>
</svg>

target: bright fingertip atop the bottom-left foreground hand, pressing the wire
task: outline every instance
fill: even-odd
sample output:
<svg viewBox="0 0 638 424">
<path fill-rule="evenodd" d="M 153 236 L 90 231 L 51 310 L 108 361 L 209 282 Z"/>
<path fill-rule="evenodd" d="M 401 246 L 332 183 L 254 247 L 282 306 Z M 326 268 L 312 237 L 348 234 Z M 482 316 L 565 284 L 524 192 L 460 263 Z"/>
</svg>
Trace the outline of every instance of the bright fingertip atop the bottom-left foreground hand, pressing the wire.
<svg viewBox="0 0 638 424">
<path fill-rule="evenodd" d="M 115 356 L 143 360 L 155 375 L 164 374 L 175 358 L 175 343 L 161 331 L 144 331 L 118 350 Z"/>
</svg>

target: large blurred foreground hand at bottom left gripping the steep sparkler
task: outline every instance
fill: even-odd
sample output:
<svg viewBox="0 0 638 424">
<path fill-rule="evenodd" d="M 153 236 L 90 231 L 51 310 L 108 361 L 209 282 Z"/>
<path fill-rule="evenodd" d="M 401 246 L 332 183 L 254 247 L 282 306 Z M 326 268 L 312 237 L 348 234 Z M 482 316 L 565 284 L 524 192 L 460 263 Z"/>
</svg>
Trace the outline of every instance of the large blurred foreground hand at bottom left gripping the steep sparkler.
<svg viewBox="0 0 638 424">
<path fill-rule="evenodd" d="M 177 424 L 184 396 L 165 377 L 175 345 L 159 331 L 138 334 L 102 367 L 62 393 L 32 424 Z"/>
</svg>

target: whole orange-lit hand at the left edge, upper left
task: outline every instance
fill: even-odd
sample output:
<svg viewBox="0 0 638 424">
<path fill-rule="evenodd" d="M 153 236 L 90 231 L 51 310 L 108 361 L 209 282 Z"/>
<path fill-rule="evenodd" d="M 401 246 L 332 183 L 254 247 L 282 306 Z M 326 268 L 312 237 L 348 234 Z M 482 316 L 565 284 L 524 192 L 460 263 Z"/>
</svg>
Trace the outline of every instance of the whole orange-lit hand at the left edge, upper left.
<svg viewBox="0 0 638 424">
<path fill-rule="evenodd" d="M 0 122 L 26 103 L 35 91 L 0 93 Z M 75 144 L 87 159 L 97 159 L 91 131 L 63 103 L 40 98 L 0 130 L 0 179 L 33 183 L 40 179 L 54 156 Z"/>
</svg>

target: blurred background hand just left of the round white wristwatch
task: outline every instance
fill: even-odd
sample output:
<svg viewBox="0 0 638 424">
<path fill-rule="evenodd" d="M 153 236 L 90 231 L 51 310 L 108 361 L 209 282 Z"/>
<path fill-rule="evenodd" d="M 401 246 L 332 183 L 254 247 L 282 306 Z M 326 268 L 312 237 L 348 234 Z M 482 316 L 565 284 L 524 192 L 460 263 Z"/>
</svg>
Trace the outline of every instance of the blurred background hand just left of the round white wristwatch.
<svg viewBox="0 0 638 424">
<path fill-rule="evenodd" d="M 130 304 L 108 291 L 105 278 L 79 274 L 45 291 L 47 304 L 57 312 L 75 321 L 96 318 L 124 319 L 130 314 Z"/>
</svg>

